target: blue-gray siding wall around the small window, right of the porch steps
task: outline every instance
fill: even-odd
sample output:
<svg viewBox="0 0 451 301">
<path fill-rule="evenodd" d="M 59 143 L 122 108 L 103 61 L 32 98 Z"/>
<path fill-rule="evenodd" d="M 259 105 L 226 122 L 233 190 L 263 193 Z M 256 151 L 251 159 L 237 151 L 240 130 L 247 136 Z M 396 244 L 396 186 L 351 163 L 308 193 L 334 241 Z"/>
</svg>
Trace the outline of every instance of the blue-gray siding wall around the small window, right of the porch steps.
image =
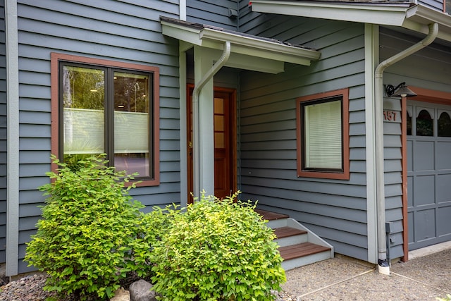
<svg viewBox="0 0 451 301">
<path fill-rule="evenodd" d="M 249 24 L 257 19 L 249 16 Z M 321 59 L 311 66 L 285 63 L 285 73 L 278 75 L 241 75 L 242 197 L 289 214 L 338 253 L 367 259 L 364 26 L 265 15 L 247 32 L 312 47 Z M 297 178 L 296 98 L 345 87 L 350 180 Z"/>
</svg>

